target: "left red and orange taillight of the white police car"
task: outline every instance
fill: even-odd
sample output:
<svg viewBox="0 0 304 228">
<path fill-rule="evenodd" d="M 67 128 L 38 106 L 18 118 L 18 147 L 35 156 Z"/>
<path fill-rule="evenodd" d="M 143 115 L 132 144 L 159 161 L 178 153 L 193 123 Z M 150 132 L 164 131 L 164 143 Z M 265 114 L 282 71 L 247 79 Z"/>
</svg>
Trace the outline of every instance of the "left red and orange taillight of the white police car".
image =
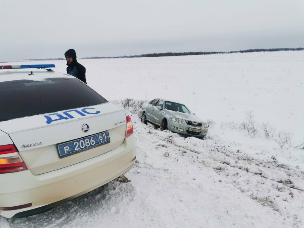
<svg viewBox="0 0 304 228">
<path fill-rule="evenodd" d="M 27 170 L 14 144 L 0 146 L 0 174 Z"/>
</svg>

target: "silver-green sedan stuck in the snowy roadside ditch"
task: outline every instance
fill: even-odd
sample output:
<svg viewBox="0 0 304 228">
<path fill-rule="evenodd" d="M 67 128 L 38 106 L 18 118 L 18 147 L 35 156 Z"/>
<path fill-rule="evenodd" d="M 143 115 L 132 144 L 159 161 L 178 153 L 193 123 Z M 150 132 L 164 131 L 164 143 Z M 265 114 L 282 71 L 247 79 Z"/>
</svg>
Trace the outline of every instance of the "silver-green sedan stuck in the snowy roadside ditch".
<svg viewBox="0 0 304 228">
<path fill-rule="evenodd" d="M 186 105 L 165 99 L 154 99 L 141 108 L 141 122 L 156 124 L 161 130 L 194 136 L 203 139 L 208 132 L 208 124 L 196 117 Z"/>
</svg>

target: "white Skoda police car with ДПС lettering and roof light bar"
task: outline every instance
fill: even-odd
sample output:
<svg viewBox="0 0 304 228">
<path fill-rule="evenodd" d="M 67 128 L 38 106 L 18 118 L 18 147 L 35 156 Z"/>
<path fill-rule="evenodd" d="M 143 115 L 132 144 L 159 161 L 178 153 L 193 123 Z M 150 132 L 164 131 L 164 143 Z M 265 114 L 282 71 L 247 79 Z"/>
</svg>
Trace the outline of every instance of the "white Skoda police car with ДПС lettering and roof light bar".
<svg viewBox="0 0 304 228">
<path fill-rule="evenodd" d="M 0 66 L 0 215 L 46 211 L 125 174 L 136 159 L 125 110 L 45 65 Z M 43 68 L 31 72 L 29 68 Z"/>
</svg>

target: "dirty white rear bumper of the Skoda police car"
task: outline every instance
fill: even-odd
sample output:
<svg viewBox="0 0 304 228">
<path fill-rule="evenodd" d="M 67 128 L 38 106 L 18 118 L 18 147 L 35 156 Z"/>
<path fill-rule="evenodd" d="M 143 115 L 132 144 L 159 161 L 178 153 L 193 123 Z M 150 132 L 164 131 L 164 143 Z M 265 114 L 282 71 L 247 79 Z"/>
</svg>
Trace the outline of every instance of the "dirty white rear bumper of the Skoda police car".
<svg viewBox="0 0 304 228">
<path fill-rule="evenodd" d="M 74 199 L 126 173 L 132 168 L 135 156 L 135 138 L 131 135 L 120 147 L 66 168 L 40 175 L 33 175 L 29 170 L 1 174 L 0 207 L 33 205 L 0 211 L 0 215 L 30 216 Z"/>
</svg>

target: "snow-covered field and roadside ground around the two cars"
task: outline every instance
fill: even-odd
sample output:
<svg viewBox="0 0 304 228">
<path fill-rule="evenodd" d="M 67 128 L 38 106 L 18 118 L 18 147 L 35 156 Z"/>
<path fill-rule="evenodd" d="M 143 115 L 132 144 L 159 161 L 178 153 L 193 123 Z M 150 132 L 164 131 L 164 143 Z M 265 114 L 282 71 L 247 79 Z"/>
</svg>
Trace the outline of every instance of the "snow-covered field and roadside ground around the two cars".
<svg viewBox="0 0 304 228">
<path fill-rule="evenodd" d="M 40 215 L 0 218 L 1 228 L 304 227 L 304 150 L 295 148 L 304 142 L 304 51 L 79 62 L 106 99 L 180 100 L 213 121 L 208 137 L 161 132 L 130 109 L 131 182 L 112 181 Z M 34 63 L 66 72 L 65 60 L 12 64 Z"/>
</svg>

